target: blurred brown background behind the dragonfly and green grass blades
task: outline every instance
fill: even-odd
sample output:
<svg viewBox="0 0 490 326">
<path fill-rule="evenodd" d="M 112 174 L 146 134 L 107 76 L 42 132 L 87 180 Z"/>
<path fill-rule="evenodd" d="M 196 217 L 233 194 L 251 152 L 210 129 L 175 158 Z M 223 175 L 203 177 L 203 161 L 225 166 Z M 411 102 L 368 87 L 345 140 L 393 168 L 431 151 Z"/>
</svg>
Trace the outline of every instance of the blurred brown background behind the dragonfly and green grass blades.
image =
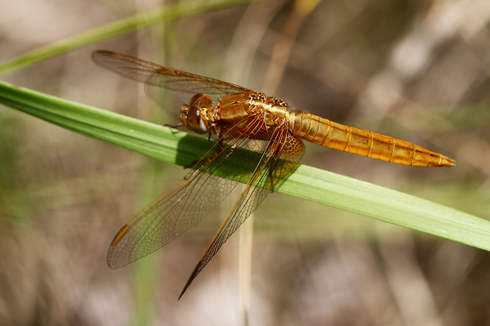
<svg viewBox="0 0 490 326">
<path fill-rule="evenodd" d="M 0 61 L 160 5 L 1 1 Z M 1 78 L 156 123 L 173 120 L 142 85 L 98 68 L 94 49 L 269 92 L 457 166 L 403 166 L 314 144 L 302 163 L 490 218 L 489 22 L 489 0 L 261 1 Z M 176 300 L 219 210 L 134 264 L 113 271 L 105 262 L 121 226 L 183 174 L 0 107 L 0 324 L 243 325 L 238 233 Z M 253 227 L 250 325 L 490 325 L 488 252 L 275 193 Z"/>
</svg>

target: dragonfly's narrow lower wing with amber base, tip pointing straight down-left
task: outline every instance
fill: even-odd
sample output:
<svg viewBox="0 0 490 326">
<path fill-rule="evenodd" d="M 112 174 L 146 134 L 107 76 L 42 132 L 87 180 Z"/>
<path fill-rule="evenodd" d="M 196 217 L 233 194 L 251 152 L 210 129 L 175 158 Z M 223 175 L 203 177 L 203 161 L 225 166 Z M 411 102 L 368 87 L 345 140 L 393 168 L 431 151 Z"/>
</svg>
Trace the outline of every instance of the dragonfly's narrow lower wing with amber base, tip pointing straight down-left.
<svg viewBox="0 0 490 326">
<path fill-rule="evenodd" d="M 273 190 L 274 186 L 297 168 L 303 153 L 303 142 L 289 134 L 287 130 L 278 130 L 274 134 L 245 190 L 197 263 L 180 296 L 184 294 L 197 274 L 218 252 L 221 245 L 238 229 L 250 213 L 257 209 L 267 194 Z"/>
</svg>

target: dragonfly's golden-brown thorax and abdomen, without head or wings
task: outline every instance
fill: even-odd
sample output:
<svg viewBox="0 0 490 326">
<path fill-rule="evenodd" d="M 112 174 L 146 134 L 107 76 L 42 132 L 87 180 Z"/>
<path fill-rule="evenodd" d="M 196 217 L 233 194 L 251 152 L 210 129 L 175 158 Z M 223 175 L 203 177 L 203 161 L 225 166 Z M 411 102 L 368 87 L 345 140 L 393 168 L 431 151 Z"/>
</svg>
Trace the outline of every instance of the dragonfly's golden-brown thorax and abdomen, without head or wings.
<svg viewBox="0 0 490 326">
<path fill-rule="evenodd" d="M 183 106 L 185 108 L 188 106 Z M 199 107 L 199 106 L 198 106 Z M 269 139 L 270 130 L 287 128 L 301 139 L 381 161 L 416 166 L 454 166 L 455 161 L 411 142 L 350 127 L 304 112 L 289 112 L 287 103 L 259 92 L 230 95 L 213 108 L 203 109 L 208 125 L 230 137 Z M 249 128 L 249 122 L 262 123 Z M 183 120 L 184 121 L 184 120 Z M 184 123 L 185 124 L 185 123 Z M 217 131 L 215 133 L 218 133 Z"/>
</svg>

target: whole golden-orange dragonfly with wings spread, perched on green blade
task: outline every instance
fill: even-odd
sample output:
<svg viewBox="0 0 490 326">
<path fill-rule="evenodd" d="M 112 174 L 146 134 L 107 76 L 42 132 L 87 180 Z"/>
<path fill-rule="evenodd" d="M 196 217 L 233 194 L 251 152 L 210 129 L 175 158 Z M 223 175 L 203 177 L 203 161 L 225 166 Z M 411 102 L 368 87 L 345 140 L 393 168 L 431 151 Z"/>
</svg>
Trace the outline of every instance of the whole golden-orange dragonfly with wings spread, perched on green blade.
<svg viewBox="0 0 490 326">
<path fill-rule="evenodd" d="M 215 209 L 239 182 L 246 184 L 179 299 L 228 237 L 298 166 L 305 150 L 303 140 L 392 163 L 455 165 L 454 160 L 411 142 L 293 111 L 286 101 L 232 83 L 107 50 L 94 51 L 92 59 L 143 82 L 147 95 L 170 112 L 162 90 L 193 94 L 180 107 L 180 123 L 173 127 L 207 134 L 212 141 L 211 149 L 189 166 L 181 181 L 115 235 L 107 255 L 110 268 L 123 267 L 165 246 Z M 209 95 L 218 96 L 216 105 Z"/>
</svg>

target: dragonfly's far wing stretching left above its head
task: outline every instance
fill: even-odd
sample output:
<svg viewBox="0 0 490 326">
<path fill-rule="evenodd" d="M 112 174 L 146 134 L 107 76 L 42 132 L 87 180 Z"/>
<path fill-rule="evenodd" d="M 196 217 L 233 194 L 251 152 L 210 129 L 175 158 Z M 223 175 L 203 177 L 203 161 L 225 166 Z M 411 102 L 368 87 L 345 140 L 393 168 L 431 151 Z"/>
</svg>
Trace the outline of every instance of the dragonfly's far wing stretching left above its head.
<svg viewBox="0 0 490 326">
<path fill-rule="evenodd" d="M 92 52 L 92 59 L 99 66 L 112 70 L 120 75 L 143 82 L 151 87 L 161 87 L 177 92 L 228 94 L 246 93 L 249 89 L 221 80 L 199 76 L 193 73 L 156 65 L 129 55 L 107 50 Z M 153 91 L 147 91 L 153 94 Z M 153 96 L 150 95 L 153 98 Z"/>
</svg>

